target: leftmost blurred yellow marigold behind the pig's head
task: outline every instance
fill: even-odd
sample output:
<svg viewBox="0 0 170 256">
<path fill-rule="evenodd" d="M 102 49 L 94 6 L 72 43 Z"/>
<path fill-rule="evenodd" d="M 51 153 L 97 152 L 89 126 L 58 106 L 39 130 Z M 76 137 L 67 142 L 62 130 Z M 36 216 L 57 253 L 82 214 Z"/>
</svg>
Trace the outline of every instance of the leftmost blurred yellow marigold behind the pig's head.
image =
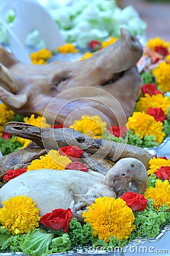
<svg viewBox="0 0 170 256">
<path fill-rule="evenodd" d="M 46 64 L 45 60 L 52 57 L 52 53 L 49 51 L 49 49 L 42 48 L 37 52 L 30 53 L 29 56 L 32 64 Z"/>
</svg>

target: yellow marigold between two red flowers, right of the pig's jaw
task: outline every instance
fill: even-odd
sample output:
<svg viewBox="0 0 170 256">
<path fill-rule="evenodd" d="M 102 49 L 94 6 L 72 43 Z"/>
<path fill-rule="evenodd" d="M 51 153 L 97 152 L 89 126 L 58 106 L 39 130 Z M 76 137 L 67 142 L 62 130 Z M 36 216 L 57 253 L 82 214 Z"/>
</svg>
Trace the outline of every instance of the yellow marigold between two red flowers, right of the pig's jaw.
<svg viewBox="0 0 170 256">
<path fill-rule="evenodd" d="M 148 93 L 145 94 L 145 97 L 141 97 L 140 100 L 135 105 L 135 110 L 144 111 L 151 108 L 162 108 L 165 114 L 168 114 L 168 109 L 170 106 L 170 100 L 168 96 L 163 96 L 162 94 L 153 94 L 150 96 Z"/>
</svg>

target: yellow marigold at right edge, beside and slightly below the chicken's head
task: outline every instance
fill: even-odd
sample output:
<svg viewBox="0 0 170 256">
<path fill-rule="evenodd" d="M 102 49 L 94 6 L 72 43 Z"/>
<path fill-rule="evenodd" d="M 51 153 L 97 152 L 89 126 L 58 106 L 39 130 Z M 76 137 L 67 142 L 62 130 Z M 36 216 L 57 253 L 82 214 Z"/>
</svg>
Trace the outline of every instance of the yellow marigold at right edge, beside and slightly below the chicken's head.
<svg viewBox="0 0 170 256">
<path fill-rule="evenodd" d="M 146 199 L 154 201 L 154 208 L 159 210 L 163 204 L 167 204 L 170 208 L 170 184 L 168 180 L 156 180 L 155 188 L 149 187 L 144 194 Z"/>
</svg>

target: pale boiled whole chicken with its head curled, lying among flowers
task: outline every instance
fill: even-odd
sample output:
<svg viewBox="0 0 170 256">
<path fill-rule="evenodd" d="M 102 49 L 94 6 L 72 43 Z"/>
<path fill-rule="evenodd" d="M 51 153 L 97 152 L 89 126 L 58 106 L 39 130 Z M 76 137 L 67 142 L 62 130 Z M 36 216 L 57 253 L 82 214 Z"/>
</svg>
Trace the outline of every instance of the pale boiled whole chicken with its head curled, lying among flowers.
<svg viewBox="0 0 170 256">
<path fill-rule="evenodd" d="M 0 189 L 0 204 L 3 207 L 3 201 L 24 195 L 35 201 L 40 216 L 56 208 L 71 208 L 74 216 L 82 220 L 83 211 L 97 197 L 117 198 L 126 191 L 144 193 L 147 185 L 144 164 L 134 158 L 125 158 L 106 175 L 77 170 L 27 171 Z"/>
</svg>

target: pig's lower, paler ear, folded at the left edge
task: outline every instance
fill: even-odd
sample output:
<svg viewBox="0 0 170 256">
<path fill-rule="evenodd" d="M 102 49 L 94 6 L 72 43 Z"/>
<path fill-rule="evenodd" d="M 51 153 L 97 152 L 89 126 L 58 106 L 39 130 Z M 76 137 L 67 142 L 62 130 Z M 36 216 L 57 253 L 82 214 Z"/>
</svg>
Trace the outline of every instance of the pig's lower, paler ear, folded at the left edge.
<svg viewBox="0 0 170 256">
<path fill-rule="evenodd" d="M 18 81 L 12 73 L 0 64 L 0 100 L 12 108 L 21 108 L 28 100 L 25 94 L 15 94 Z"/>
</svg>

